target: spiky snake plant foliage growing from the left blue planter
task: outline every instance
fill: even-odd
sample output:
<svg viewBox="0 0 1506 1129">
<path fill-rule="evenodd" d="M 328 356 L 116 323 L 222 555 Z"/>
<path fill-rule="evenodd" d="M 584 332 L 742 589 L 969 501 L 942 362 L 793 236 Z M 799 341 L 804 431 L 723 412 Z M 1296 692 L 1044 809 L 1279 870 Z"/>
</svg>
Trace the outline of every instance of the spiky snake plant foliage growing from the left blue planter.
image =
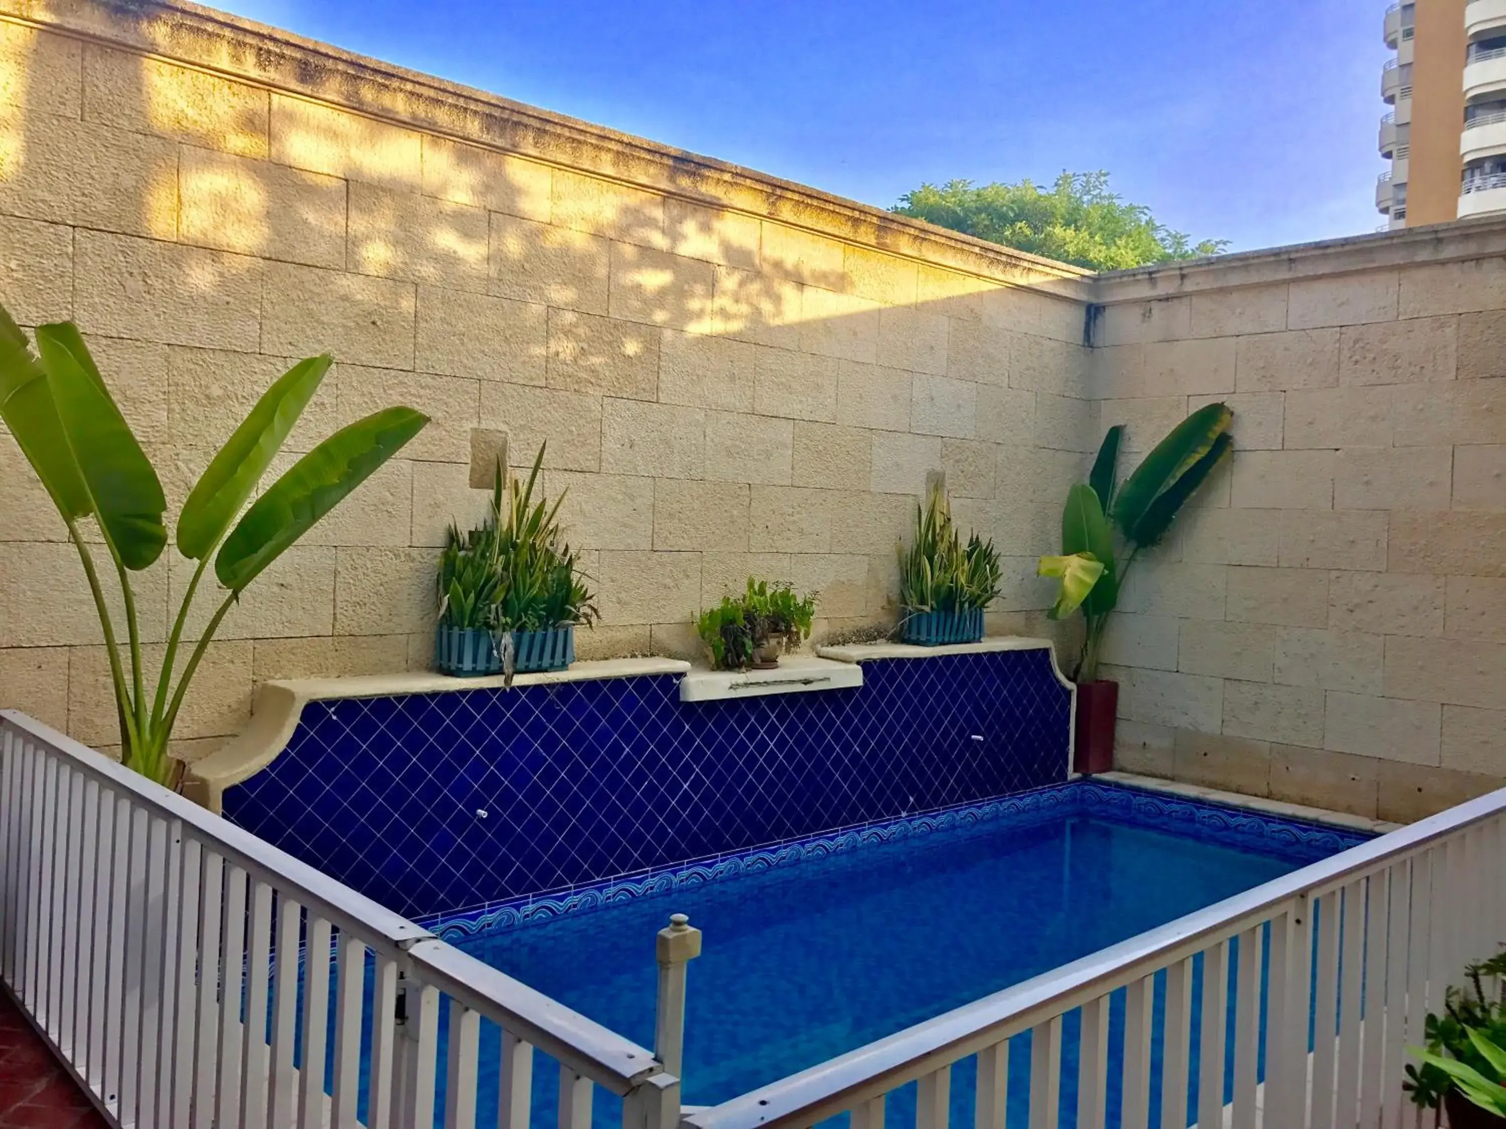
<svg viewBox="0 0 1506 1129">
<path fill-rule="evenodd" d="M 497 464 L 485 522 L 468 533 L 450 524 L 437 583 L 440 623 L 503 635 L 596 620 L 596 598 L 559 525 L 565 492 L 553 506 L 533 497 L 544 450 L 526 482 Z"/>
</svg>

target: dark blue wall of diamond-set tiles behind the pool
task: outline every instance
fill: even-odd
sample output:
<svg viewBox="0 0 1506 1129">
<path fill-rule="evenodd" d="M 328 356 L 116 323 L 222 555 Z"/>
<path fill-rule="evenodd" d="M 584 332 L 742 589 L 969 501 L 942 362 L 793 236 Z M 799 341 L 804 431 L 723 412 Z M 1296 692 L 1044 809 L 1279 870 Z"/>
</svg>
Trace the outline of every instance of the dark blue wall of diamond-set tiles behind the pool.
<svg viewBox="0 0 1506 1129">
<path fill-rule="evenodd" d="M 224 814 L 419 917 L 1066 778 L 1047 650 L 863 676 L 702 703 L 676 674 L 313 701 Z"/>
</svg>

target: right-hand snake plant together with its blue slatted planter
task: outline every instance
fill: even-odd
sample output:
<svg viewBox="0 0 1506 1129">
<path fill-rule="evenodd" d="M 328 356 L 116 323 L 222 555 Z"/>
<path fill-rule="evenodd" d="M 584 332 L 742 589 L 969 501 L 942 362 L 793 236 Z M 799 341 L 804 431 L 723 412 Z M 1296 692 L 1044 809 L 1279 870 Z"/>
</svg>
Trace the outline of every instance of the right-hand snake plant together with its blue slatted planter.
<svg viewBox="0 0 1506 1129">
<path fill-rule="evenodd" d="M 983 608 L 998 596 L 998 552 L 973 533 L 967 543 L 952 524 L 940 483 L 916 506 L 916 536 L 899 546 L 901 631 L 905 643 L 935 647 L 983 638 Z"/>
</svg>

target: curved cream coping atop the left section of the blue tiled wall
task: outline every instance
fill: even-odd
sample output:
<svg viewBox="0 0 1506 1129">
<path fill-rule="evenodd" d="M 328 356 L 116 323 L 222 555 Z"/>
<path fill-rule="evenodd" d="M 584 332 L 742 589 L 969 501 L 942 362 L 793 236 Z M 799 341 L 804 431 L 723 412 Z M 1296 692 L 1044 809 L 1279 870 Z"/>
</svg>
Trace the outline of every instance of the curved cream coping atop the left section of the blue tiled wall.
<svg viewBox="0 0 1506 1129">
<path fill-rule="evenodd" d="M 645 674 L 685 674 L 684 659 L 628 658 L 572 662 L 565 670 L 517 674 L 514 686 L 560 685 L 599 679 L 642 677 Z M 303 708 L 310 701 L 336 698 L 405 697 L 410 694 L 446 694 L 468 689 L 498 689 L 506 685 L 501 674 L 456 679 L 429 671 L 402 674 L 357 674 L 334 679 L 280 679 L 256 688 L 252 721 L 202 760 L 188 765 L 184 795 L 215 814 L 223 810 L 224 789 L 250 780 L 288 748 Z"/>
</svg>

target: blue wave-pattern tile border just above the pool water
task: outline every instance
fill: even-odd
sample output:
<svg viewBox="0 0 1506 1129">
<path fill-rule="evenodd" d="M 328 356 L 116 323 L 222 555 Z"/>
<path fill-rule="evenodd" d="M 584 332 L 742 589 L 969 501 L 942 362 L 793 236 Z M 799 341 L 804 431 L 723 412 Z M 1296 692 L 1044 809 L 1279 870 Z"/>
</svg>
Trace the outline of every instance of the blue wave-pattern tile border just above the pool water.
<svg viewBox="0 0 1506 1129">
<path fill-rule="evenodd" d="M 422 918 L 420 924 L 446 941 L 462 941 L 479 933 L 541 924 L 568 914 L 604 909 L 622 902 L 669 894 L 742 875 L 759 875 L 776 867 L 830 858 L 836 854 L 893 843 L 911 835 L 959 831 L 998 819 L 1008 819 L 1017 828 L 1027 828 L 1048 819 L 1074 814 L 1096 814 L 1137 826 L 1172 831 L 1221 846 L 1277 855 L 1297 864 L 1328 858 L 1370 838 L 1370 835 L 1348 828 L 1282 819 L 1217 802 L 1142 792 L 1122 784 L 1077 780 L 985 804 L 967 804 L 883 823 L 842 828 L 822 835 L 773 843 L 720 858 L 700 858 L 658 872 L 631 875 L 574 890 L 473 906 L 456 914 L 435 914 Z"/>
</svg>

